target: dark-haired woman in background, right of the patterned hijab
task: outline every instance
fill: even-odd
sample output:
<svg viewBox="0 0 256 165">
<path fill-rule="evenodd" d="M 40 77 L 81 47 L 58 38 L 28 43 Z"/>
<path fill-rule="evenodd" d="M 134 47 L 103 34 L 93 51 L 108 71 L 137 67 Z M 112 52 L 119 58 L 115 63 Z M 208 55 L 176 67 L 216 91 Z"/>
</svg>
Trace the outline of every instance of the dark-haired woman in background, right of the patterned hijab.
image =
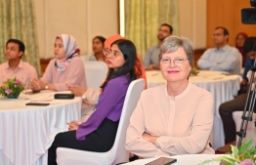
<svg viewBox="0 0 256 165">
<path fill-rule="evenodd" d="M 104 56 L 104 42 L 106 38 L 102 36 L 96 36 L 93 39 L 93 51 L 94 55 L 89 57 L 89 61 L 101 61 L 105 62 Z"/>
</svg>

